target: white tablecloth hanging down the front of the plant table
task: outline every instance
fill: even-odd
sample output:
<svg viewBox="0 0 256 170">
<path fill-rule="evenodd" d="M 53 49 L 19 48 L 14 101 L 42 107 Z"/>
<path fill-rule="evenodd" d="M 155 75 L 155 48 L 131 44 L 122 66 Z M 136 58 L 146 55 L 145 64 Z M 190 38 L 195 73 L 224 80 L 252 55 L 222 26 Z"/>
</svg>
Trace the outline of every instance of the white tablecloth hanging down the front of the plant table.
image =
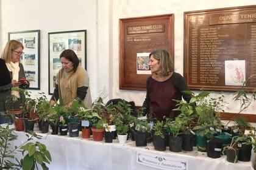
<svg viewBox="0 0 256 170">
<path fill-rule="evenodd" d="M 12 146 L 18 146 L 26 141 L 25 132 L 16 132 L 18 140 L 12 143 Z M 135 141 L 127 141 L 124 146 L 118 143 L 118 140 L 113 140 L 113 143 L 104 143 L 104 141 L 92 141 L 90 138 L 83 139 L 81 134 L 79 137 L 69 137 L 51 134 L 40 134 L 43 138 L 40 141 L 45 144 L 52 156 L 49 169 L 116 169 L 116 170 L 153 170 L 149 166 L 137 163 L 137 151 L 147 151 L 153 154 L 163 156 L 185 158 L 188 160 L 189 170 L 201 169 L 218 169 L 218 170 L 251 170 L 254 169 L 255 154 L 252 153 L 251 161 L 238 163 L 229 163 L 226 161 L 226 156 L 221 158 L 209 158 L 206 153 L 202 155 L 196 151 L 191 152 L 171 152 L 169 147 L 166 151 L 155 151 L 152 143 L 147 147 L 136 147 Z"/>
</svg>

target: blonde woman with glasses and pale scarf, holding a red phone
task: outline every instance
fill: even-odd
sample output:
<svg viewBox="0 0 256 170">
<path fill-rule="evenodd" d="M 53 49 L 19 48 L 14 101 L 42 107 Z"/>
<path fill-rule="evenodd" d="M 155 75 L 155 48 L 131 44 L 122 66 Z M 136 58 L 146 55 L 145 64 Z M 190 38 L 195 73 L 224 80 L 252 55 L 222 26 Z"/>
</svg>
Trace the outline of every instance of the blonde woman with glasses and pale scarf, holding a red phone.
<svg viewBox="0 0 256 170">
<path fill-rule="evenodd" d="M 23 65 L 20 63 L 20 58 L 24 55 L 23 44 L 16 40 L 10 40 L 5 45 L 4 51 L 2 52 L 1 58 L 5 61 L 7 69 L 10 73 L 11 82 L 2 86 L 5 94 L 0 97 L 0 111 L 9 109 L 20 109 L 21 101 L 24 101 L 24 94 L 20 94 L 17 90 L 12 90 L 12 87 L 17 88 L 27 88 L 29 87 L 29 82 L 26 80 Z M 10 106 L 11 96 L 13 95 L 17 98 L 13 106 Z"/>
</svg>

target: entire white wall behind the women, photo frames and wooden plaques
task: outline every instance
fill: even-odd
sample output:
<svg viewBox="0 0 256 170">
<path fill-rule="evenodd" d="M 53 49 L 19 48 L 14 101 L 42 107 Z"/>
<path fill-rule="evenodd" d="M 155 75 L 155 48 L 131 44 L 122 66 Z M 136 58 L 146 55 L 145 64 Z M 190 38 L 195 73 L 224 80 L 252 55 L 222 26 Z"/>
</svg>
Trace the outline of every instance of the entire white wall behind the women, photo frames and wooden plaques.
<svg viewBox="0 0 256 170">
<path fill-rule="evenodd" d="M 86 29 L 93 100 L 105 89 L 108 98 L 124 98 L 141 106 L 146 92 L 119 90 L 119 18 L 174 13 L 175 71 L 183 75 L 183 12 L 255 4 L 256 0 L 1 0 L 0 52 L 8 32 L 40 29 L 41 91 L 48 93 L 48 32 Z M 226 112 L 238 112 L 240 104 L 232 101 L 233 93 L 224 95 L 229 102 Z M 255 110 L 252 103 L 245 113 Z"/>
</svg>

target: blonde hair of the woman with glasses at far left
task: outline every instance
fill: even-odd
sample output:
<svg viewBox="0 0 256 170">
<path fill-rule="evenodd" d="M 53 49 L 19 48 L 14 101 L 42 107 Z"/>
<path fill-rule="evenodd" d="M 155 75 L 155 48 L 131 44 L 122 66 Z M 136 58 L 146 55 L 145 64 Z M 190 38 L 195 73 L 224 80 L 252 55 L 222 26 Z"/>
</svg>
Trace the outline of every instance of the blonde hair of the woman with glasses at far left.
<svg viewBox="0 0 256 170">
<path fill-rule="evenodd" d="M 12 51 L 21 47 L 24 49 L 23 44 L 20 41 L 10 40 L 6 43 L 4 47 L 4 52 L 2 52 L 1 58 L 5 60 L 5 63 L 10 63 L 12 61 Z"/>
</svg>

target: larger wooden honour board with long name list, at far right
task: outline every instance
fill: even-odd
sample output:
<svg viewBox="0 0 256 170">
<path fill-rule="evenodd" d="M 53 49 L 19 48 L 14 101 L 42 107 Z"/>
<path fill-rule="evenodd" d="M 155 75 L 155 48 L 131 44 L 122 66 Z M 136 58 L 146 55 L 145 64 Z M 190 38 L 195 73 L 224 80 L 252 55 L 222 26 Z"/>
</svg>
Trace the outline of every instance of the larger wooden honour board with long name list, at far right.
<svg viewBox="0 0 256 170">
<path fill-rule="evenodd" d="M 256 73 L 256 5 L 185 12 L 183 68 L 190 89 L 240 89 Z"/>
</svg>

